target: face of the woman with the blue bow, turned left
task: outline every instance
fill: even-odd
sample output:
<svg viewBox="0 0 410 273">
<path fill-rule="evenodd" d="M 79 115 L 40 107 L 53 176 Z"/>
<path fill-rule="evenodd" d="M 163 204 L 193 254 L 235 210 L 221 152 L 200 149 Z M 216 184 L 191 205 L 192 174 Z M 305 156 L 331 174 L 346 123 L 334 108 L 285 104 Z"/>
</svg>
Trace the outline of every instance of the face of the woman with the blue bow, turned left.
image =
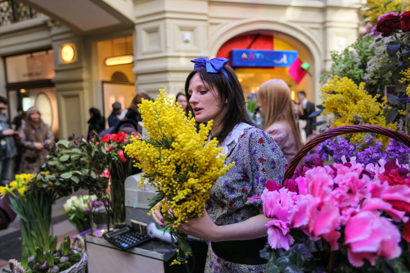
<svg viewBox="0 0 410 273">
<path fill-rule="evenodd" d="M 189 103 L 195 114 L 196 121 L 208 122 L 214 120 L 214 127 L 222 120 L 225 106 L 220 106 L 220 96 L 217 90 L 212 90 L 207 83 L 203 83 L 198 73 L 189 82 Z"/>
</svg>

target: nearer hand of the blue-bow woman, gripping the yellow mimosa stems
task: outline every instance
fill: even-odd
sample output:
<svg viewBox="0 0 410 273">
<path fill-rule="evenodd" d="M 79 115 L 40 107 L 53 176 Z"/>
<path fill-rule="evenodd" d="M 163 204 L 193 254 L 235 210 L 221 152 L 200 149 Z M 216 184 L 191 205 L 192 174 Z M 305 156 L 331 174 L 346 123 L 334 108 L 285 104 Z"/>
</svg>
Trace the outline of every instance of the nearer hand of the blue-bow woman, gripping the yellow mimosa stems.
<svg viewBox="0 0 410 273">
<path fill-rule="evenodd" d="M 180 232 L 208 241 L 218 241 L 218 226 L 212 221 L 205 209 L 200 217 L 188 218 L 187 220 L 188 223 L 183 222 L 179 225 Z"/>
</svg>

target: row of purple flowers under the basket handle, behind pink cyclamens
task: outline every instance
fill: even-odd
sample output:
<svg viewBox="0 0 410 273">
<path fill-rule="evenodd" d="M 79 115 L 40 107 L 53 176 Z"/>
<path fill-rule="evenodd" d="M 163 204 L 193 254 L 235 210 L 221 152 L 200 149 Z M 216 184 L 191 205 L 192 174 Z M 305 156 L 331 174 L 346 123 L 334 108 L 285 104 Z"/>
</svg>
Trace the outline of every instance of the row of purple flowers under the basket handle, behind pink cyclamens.
<svg viewBox="0 0 410 273">
<path fill-rule="evenodd" d="M 320 143 L 316 151 L 322 160 L 329 161 L 329 156 L 331 156 L 335 163 L 342 163 L 342 156 L 345 156 L 345 158 L 355 156 L 357 163 L 365 165 L 370 163 L 375 164 L 380 159 L 386 161 L 397 159 L 399 164 L 408 163 L 410 148 L 393 138 L 390 139 L 390 143 L 385 152 L 382 151 L 383 143 L 380 141 L 375 142 L 372 135 L 366 135 L 360 143 L 362 144 L 356 144 L 355 146 L 345 138 L 336 137 Z M 367 148 L 363 149 L 360 146 L 363 144 L 367 146 Z"/>
</svg>

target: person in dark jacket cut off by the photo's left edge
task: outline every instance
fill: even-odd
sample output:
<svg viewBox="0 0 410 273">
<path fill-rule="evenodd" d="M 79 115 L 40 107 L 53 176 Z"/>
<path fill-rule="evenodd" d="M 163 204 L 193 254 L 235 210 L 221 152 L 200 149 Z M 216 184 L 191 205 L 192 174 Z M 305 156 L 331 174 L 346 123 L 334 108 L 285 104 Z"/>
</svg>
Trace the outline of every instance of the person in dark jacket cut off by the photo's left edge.
<svg viewBox="0 0 410 273">
<path fill-rule="evenodd" d="M 13 135 L 17 134 L 17 132 L 10 128 L 9 119 L 4 114 L 6 105 L 7 99 L 0 96 L 0 185 L 3 186 L 10 182 L 10 162 L 11 159 L 17 154 L 13 137 Z"/>
</svg>

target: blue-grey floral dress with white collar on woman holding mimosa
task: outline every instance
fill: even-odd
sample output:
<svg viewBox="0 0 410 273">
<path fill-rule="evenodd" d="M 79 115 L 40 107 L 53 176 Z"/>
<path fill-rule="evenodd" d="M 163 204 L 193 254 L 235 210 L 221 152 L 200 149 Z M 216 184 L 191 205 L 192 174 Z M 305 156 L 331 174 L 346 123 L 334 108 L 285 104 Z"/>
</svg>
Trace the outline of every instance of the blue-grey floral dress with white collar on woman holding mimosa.
<svg viewBox="0 0 410 273">
<path fill-rule="evenodd" d="M 212 188 L 206 207 L 211 219 L 227 225 L 258 215 L 262 200 L 248 198 L 261 195 L 268 179 L 281 182 L 288 162 L 268 133 L 246 123 L 237 124 L 218 146 L 228 155 L 226 164 L 235 161 L 235 166 Z M 263 272 L 264 267 L 223 260 L 209 245 L 205 272 Z"/>
</svg>

